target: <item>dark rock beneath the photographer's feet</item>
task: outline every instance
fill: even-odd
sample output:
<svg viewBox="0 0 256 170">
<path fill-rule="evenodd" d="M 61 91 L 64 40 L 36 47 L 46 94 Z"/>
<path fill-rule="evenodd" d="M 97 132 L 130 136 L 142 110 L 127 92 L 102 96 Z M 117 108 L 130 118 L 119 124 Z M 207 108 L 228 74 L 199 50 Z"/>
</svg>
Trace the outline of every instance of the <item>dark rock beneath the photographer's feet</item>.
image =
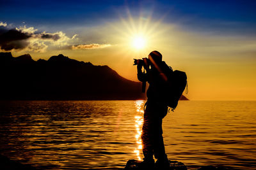
<svg viewBox="0 0 256 170">
<path fill-rule="evenodd" d="M 141 169 L 138 167 L 141 161 L 139 160 L 128 160 L 124 169 Z M 168 170 L 187 170 L 188 168 L 182 163 L 176 160 L 169 160 L 170 167 Z M 157 167 L 153 167 L 152 169 L 157 170 Z"/>
</svg>

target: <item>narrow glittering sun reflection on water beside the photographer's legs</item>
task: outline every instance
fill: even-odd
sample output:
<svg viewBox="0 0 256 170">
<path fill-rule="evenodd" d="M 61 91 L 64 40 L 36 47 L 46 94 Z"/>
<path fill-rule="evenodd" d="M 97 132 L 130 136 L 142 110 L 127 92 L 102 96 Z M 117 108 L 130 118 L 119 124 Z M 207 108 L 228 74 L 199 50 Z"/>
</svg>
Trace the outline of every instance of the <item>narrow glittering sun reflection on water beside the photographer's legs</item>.
<svg viewBox="0 0 256 170">
<path fill-rule="evenodd" d="M 140 101 L 135 101 L 135 106 L 137 108 L 137 115 L 135 116 L 135 127 L 136 127 L 136 135 L 135 135 L 135 139 L 136 139 L 136 148 L 134 150 L 134 153 L 136 153 L 138 160 L 141 160 L 140 157 L 140 153 L 142 150 L 142 142 L 141 142 L 141 129 L 142 129 L 142 125 L 143 125 L 143 104 L 144 101 L 140 100 Z"/>
</svg>

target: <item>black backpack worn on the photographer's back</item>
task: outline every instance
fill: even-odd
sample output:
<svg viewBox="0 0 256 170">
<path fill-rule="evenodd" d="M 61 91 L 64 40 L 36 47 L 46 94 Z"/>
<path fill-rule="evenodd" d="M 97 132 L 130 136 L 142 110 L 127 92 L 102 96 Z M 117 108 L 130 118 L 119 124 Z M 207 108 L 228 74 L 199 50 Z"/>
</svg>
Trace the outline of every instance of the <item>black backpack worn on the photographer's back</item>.
<svg viewBox="0 0 256 170">
<path fill-rule="evenodd" d="M 168 69 L 165 69 L 164 72 L 168 78 L 164 88 L 164 101 L 166 102 L 167 106 L 172 108 L 172 111 L 174 111 L 183 91 L 185 90 L 186 86 L 188 87 L 187 75 L 184 71 L 173 71 L 172 67 L 168 67 Z"/>
</svg>

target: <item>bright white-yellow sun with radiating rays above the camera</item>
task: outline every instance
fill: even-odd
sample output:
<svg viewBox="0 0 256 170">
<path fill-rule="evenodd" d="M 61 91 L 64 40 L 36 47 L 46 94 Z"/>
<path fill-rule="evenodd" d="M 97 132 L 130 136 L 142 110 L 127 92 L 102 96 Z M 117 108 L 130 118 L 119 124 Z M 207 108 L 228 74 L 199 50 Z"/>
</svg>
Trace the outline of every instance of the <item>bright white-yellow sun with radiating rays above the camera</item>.
<svg viewBox="0 0 256 170">
<path fill-rule="evenodd" d="M 161 19 L 153 20 L 150 14 L 132 17 L 127 10 L 127 15 L 120 16 L 120 22 L 111 26 L 115 29 L 115 39 L 124 52 L 123 56 L 127 57 L 146 57 L 159 48 L 160 38 L 163 38 Z"/>
</svg>

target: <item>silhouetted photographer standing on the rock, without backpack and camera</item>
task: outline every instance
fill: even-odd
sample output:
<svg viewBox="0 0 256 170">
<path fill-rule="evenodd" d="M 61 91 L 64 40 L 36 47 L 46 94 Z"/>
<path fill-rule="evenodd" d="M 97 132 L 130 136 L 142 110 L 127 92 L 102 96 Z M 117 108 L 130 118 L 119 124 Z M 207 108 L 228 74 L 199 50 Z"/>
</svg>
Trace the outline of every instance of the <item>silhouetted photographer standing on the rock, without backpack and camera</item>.
<svg viewBox="0 0 256 170">
<path fill-rule="evenodd" d="M 157 51 L 151 52 L 148 59 L 148 64 L 140 62 L 137 66 L 138 80 L 148 81 L 149 83 L 141 135 L 144 155 L 141 166 L 145 168 L 154 167 L 154 155 L 157 159 L 156 166 L 162 169 L 169 167 L 169 161 L 164 150 L 162 122 L 168 112 L 168 106 L 163 97 L 163 87 L 167 81 L 164 71 L 170 69 L 170 67 L 162 61 L 162 55 Z M 142 66 L 146 68 L 147 73 L 142 73 Z"/>
</svg>

